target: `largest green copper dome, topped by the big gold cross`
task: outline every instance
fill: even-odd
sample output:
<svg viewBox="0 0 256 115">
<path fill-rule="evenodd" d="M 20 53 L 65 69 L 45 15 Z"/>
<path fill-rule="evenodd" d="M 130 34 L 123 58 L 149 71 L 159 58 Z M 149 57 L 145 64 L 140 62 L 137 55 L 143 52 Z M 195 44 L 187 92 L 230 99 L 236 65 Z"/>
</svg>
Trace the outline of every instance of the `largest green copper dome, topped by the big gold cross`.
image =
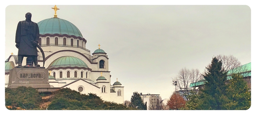
<svg viewBox="0 0 256 115">
<path fill-rule="evenodd" d="M 80 36 L 83 38 L 79 29 L 67 20 L 63 20 L 60 18 L 49 18 L 42 20 L 37 23 L 39 27 L 39 34 L 67 34 L 67 35 L 74 35 Z"/>
</svg>

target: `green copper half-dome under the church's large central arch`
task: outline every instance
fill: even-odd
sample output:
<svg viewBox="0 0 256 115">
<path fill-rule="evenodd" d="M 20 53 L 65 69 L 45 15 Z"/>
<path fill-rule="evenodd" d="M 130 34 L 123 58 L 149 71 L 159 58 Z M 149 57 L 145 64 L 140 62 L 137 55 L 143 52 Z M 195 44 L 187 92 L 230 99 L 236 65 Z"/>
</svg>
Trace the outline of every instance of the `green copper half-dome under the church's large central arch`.
<svg viewBox="0 0 256 115">
<path fill-rule="evenodd" d="M 80 60 L 77 57 L 73 56 L 63 56 L 59 57 L 58 59 L 54 60 L 48 67 L 50 68 L 57 68 L 57 67 L 85 67 L 88 68 L 84 61 Z"/>
</svg>

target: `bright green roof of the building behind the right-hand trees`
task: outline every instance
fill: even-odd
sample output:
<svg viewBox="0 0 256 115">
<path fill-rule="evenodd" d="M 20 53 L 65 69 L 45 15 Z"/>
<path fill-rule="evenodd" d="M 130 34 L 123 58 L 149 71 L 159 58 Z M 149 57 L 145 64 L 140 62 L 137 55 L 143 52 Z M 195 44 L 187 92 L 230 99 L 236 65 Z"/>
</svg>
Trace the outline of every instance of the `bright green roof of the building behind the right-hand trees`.
<svg viewBox="0 0 256 115">
<path fill-rule="evenodd" d="M 228 73 L 227 73 L 227 79 L 230 80 L 232 79 L 231 77 L 231 73 L 232 73 L 232 70 L 228 70 Z M 247 76 L 251 76 L 251 62 L 248 63 L 248 64 L 244 64 L 244 65 L 241 65 L 239 67 L 236 67 L 233 69 L 233 74 L 237 74 L 237 73 L 241 73 L 241 75 L 243 77 L 247 77 Z M 205 84 L 205 80 L 201 80 L 201 81 L 198 81 L 198 82 L 195 82 L 195 83 L 190 83 L 189 87 L 194 87 L 194 86 L 198 86 L 198 85 L 203 85 Z"/>
</svg>

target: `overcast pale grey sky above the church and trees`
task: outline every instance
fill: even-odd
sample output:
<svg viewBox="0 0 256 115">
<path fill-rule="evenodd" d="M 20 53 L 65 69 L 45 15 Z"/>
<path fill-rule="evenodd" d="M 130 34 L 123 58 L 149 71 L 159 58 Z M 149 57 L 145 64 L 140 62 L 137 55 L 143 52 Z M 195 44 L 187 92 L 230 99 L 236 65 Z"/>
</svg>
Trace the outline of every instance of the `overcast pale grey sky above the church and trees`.
<svg viewBox="0 0 256 115">
<path fill-rule="evenodd" d="M 86 48 L 100 44 L 109 57 L 111 84 L 118 78 L 124 100 L 134 91 L 169 98 L 172 79 L 184 67 L 205 69 L 213 56 L 234 55 L 251 62 L 251 9 L 246 5 L 58 5 L 58 18 L 78 27 Z M 54 5 L 5 6 L 5 58 L 17 55 L 15 32 L 25 14 L 52 18 Z"/>
</svg>

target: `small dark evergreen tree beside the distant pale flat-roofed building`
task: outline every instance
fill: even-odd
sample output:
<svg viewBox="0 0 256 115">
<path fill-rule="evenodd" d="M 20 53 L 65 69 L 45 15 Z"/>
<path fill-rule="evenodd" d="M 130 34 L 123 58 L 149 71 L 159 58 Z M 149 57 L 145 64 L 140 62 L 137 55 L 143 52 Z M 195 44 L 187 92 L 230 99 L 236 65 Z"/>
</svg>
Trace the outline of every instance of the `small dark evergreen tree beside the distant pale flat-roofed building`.
<svg viewBox="0 0 256 115">
<path fill-rule="evenodd" d="M 142 98 L 138 92 L 133 92 L 133 95 L 131 97 L 131 107 L 137 107 L 137 109 L 140 110 L 147 110 L 147 107 L 145 107 L 146 103 L 143 104 Z"/>
</svg>

